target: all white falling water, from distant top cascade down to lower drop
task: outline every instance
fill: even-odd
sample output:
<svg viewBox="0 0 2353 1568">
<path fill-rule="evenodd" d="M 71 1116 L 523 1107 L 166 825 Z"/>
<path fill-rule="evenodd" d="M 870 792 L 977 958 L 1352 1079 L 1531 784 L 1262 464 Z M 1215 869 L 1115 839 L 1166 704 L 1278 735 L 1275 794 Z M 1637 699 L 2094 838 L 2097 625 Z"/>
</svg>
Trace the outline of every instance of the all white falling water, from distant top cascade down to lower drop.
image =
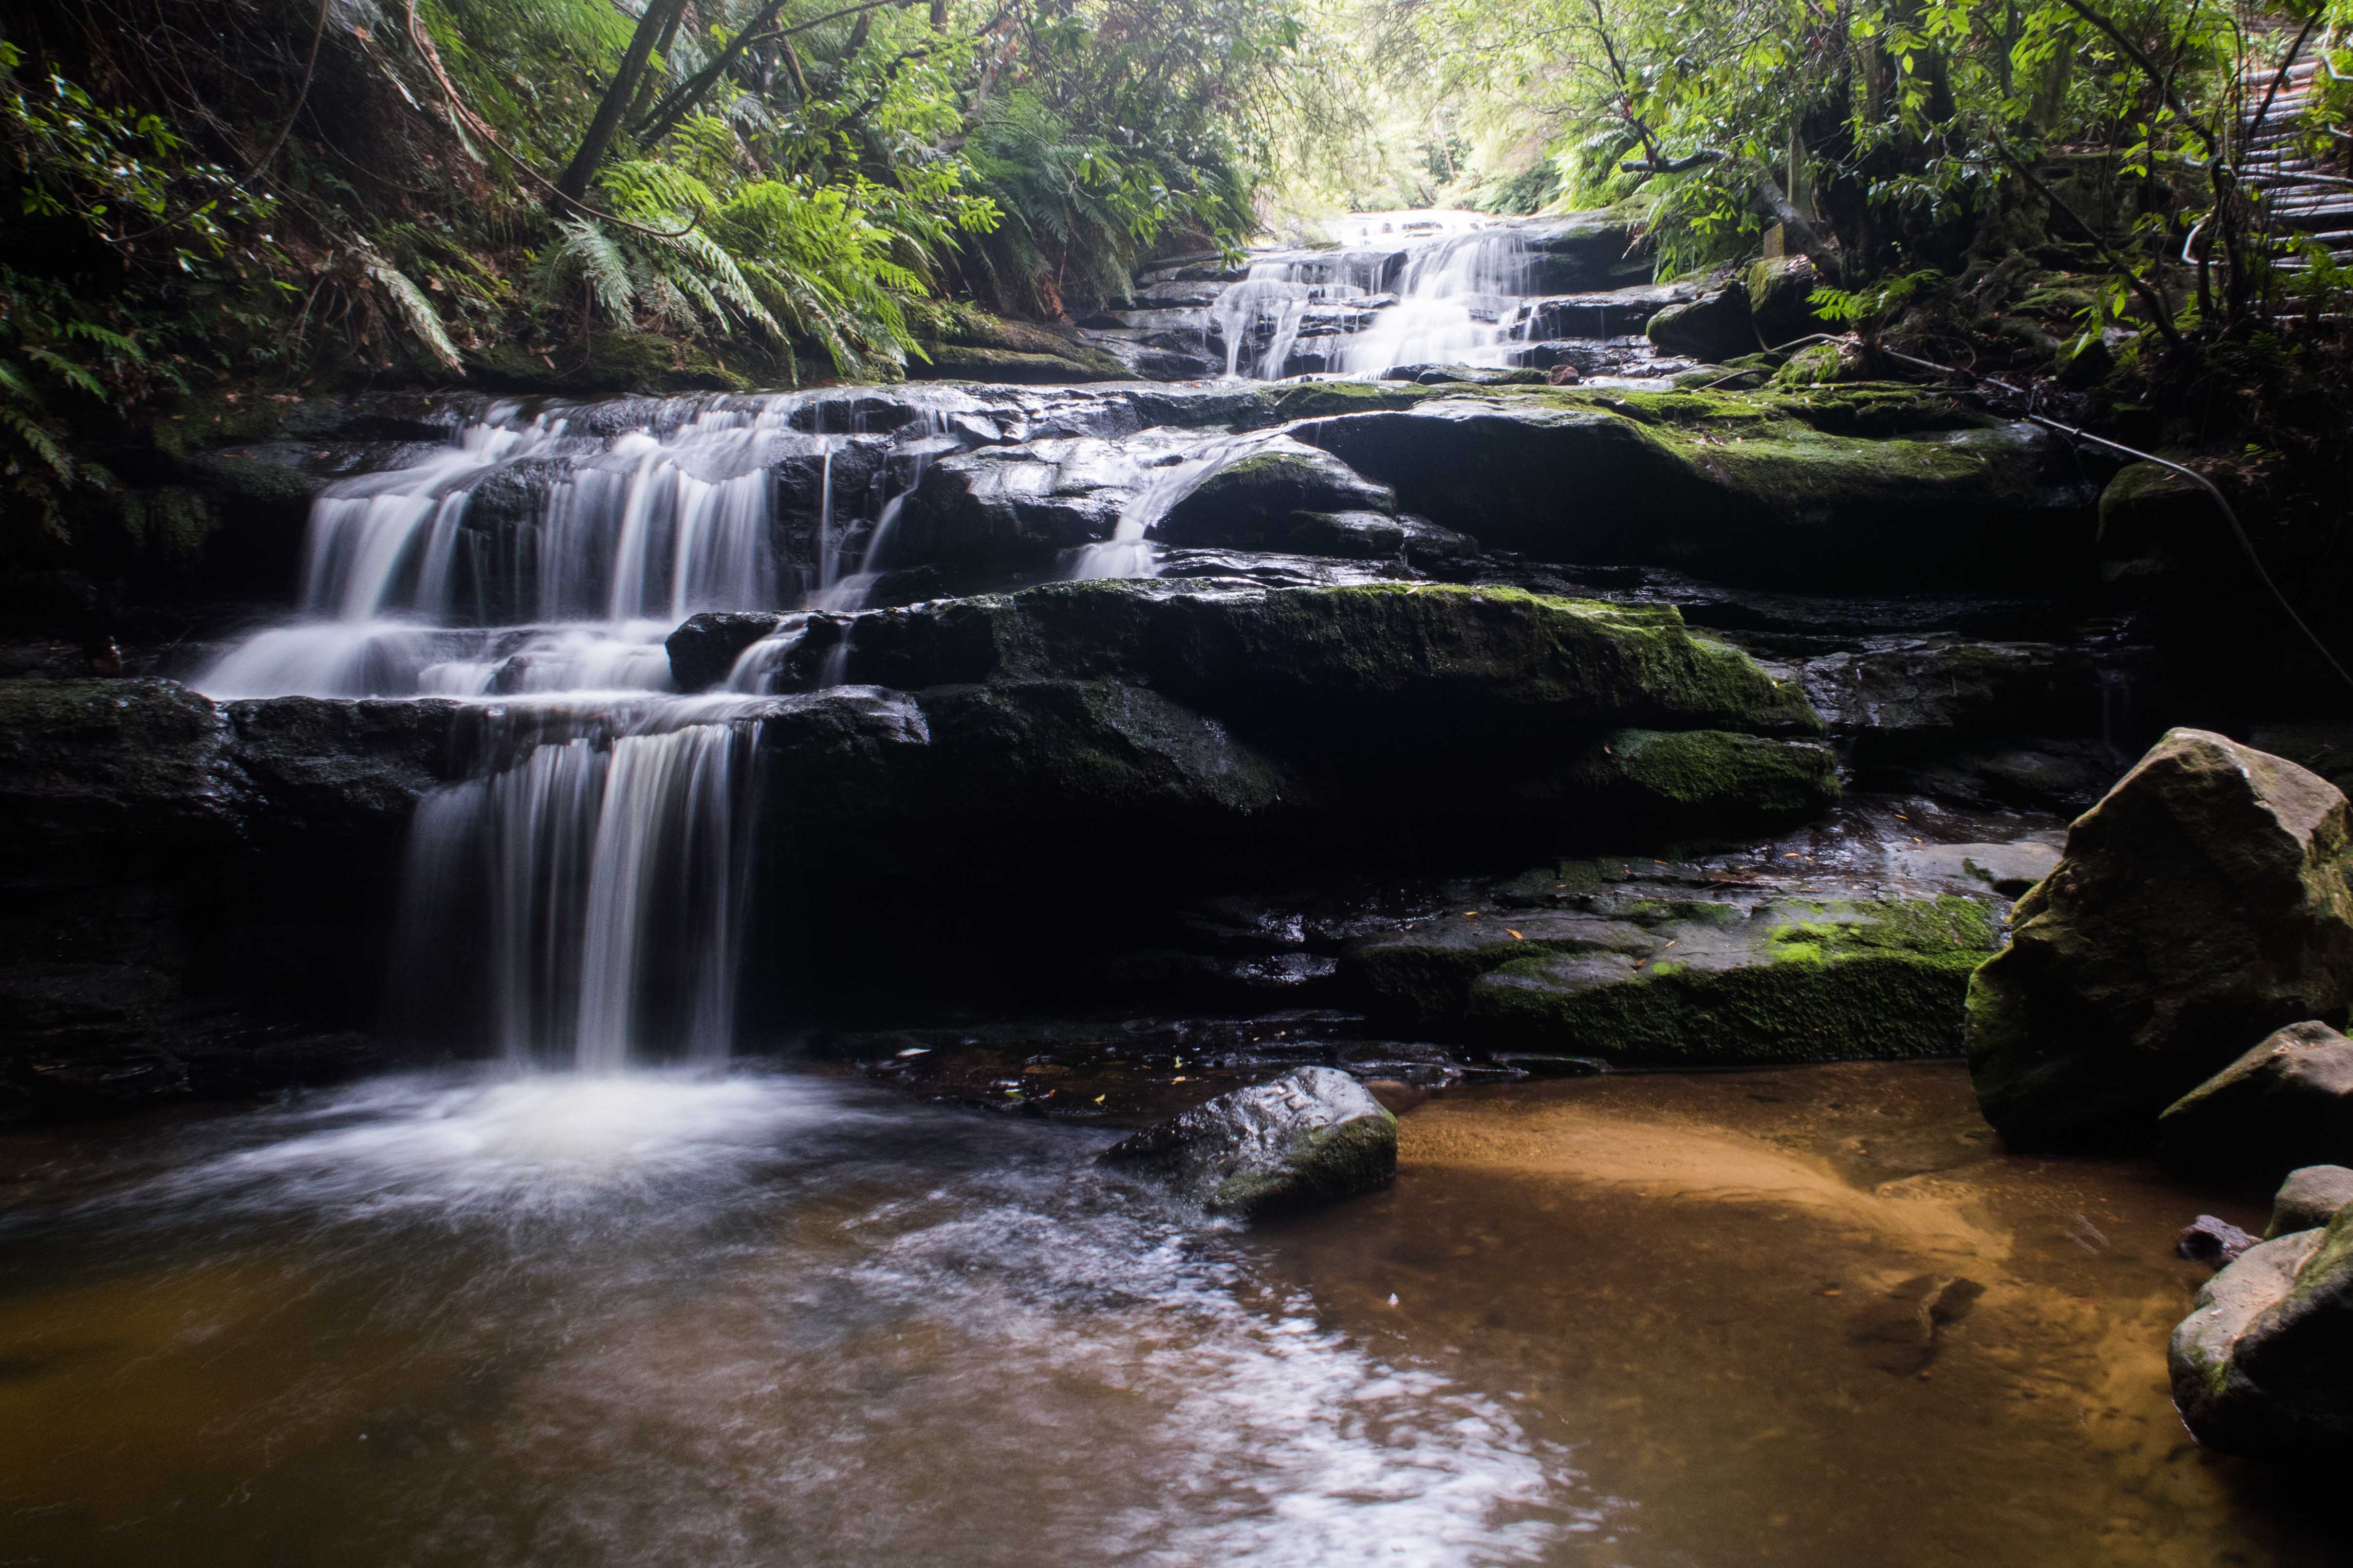
<svg viewBox="0 0 2353 1568">
<path fill-rule="evenodd" d="M 1522 275 L 1511 226 L 1369 214 L 1337 252 L 1261 261 L 1212 315 L 1228 374 L 1280 374 L 1311 313 L 1334 308 L 1341 369 L 1499 362 Z M 311 512 L 299 618 L 191 684 L 221 701 L 482 705 L 480 773 L 416 816 L 405 976 L 449 969 L 433 943 L 475 943 L 480 1032 L 513 1060 L 722 1058 L 767 693 L 809 614 L 864 609 L 901 564 L 892 541 L 929 463 L 1002 440 L 951 433 L 974 409 L 955 388 L 487 404 L 447 440 L 332 482 Z M 1268 440 L 1047 423 L 1026 442 L 1035 461 L 993 482 L 1016 503 L 1021 487 L 1120 498 L 1111 538 L 1066 559 L 1075 578 L 1155 576 L 1153 527 Z M 793 607 L 805 614 L 753 644 L 720 693 L 673 693 L 664 639 L 680 621 Z M 821 684 L 847 675 L 852 635 Z"/>
</svg>

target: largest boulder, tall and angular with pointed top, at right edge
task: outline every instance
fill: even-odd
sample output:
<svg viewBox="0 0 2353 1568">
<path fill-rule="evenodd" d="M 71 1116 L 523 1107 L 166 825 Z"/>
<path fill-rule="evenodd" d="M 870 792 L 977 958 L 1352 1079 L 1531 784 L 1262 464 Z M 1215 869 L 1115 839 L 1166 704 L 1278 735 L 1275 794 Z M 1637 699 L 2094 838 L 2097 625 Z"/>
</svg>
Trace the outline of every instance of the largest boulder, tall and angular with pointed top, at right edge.
<svg viewBox="0 0 2353 1568">
<path fill-rule="evenodd" d="M 2353 999 L 2346 797 L 2169 731 L 2068 830 L 1969 985 L 1969 1072 L 2019 1147 L 2146 1143 L 2264 1034 Z"/>
</svg>

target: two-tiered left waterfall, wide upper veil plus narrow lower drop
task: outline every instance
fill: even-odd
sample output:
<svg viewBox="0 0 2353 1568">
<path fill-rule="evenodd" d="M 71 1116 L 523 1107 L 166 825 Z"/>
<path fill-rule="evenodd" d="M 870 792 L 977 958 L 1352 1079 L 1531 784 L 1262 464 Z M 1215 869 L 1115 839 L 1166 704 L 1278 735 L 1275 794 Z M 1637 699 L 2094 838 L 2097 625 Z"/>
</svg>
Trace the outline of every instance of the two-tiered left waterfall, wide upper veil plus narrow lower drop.
<svg viewBox="0 0 2353 1568">
<path fill-rule="evenodd" d="M 671 696 L 664 637 L 704 609 L 859 607 L 946 430 L 920 397 L 892 433 L 824 395 L 492 404 L 318 498 L 304 618 L 191 684 L 482 705 L 478 776 L 416 813 L 400 917 L 402 985 L 433 976 L 468 997 L 414 1018 L 591 1072 L 727 1056 L 755 731 L 774 703 Z M 882 494 L 892 454 L 904 482 Z"/>
</svg>

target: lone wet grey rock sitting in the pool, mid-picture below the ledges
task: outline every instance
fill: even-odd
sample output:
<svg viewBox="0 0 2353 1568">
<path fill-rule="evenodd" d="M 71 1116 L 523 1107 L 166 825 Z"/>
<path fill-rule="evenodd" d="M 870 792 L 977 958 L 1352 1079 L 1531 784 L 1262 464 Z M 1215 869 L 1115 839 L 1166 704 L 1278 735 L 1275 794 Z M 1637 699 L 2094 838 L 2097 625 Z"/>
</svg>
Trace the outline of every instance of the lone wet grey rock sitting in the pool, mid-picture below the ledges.
<svg viewBox="0 0 2353 1568">
<path fill-rule="evenodd" d="M 1346 1072 L 1299 1067 L 1122 1138 L 1101 1159 L 1209 1213 L 1254 1220 L 1386 1187 L 1398 1119 Z"/>
</svg>

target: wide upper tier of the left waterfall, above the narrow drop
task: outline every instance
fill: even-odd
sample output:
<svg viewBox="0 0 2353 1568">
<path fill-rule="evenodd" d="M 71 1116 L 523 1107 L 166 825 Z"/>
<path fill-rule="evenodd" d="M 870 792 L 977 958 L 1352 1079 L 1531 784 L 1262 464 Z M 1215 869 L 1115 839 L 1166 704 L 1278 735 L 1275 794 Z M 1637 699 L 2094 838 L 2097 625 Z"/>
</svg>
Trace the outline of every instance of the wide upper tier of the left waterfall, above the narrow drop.
<svg viewBox="0 0 2353 1568">
<path fill-rule="evenodd" d="M 953 444 L 939 437 L 958 395 L 901 393 L 889 407 L 906 418 L 885 433 L 868 430 L 868 402 L 489 404 L 400 465 L 327 484 L 301 616 L 188 684 L 214 698 L 664 691 L 661 639 L 696 611 L 866 602 L 906 494 Z M 880 477 L 845 491 L 852 454 Z M 791 501 L 807 482 L 814 498 Z"/>
</svg>

